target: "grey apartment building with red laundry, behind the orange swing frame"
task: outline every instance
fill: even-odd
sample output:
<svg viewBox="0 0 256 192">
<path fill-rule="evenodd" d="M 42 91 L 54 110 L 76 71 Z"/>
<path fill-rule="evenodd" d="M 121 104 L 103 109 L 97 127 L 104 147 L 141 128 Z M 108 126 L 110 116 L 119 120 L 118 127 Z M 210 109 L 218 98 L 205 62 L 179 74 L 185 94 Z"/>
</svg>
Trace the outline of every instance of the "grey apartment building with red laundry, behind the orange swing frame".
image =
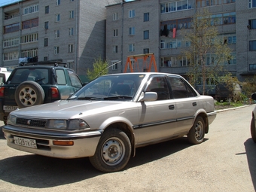
<svg viewBox="0 0 256 192">
<path fill-rule="evenodd" d="M 125 70 L 127 56 L 154 53 L 159 72 L 185 77 L 188 62 L 181 50 L 189 44 L 181 28 L 189 29 L 195 11 L 207 9 L 232 49 L 232 59 L 223 63 L 224 68 L 239 81 L 256 74 L 255 0 L 138 0 L 106 8 L 106 57 L 113 64 L 121 61 L 111 73 Z"/>
</svg>

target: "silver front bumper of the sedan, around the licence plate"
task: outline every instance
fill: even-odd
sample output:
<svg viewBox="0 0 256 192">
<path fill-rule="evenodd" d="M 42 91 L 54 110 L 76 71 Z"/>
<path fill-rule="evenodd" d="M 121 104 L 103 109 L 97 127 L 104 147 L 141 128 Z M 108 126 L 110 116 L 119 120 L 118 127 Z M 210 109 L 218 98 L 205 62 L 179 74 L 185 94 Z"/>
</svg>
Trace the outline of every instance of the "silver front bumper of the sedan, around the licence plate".
<svg viewBox="0 0 256 192">
<path fill-rule="evenodd" d="M 87 131 L 80 133 L 58 133 L 50 130 L 32 130 L 18 126 L 3 127 L 7 145 L 11 148 L 39 154 L 47 157 L 72 159 L 91 157 L 95 154 L 102 131 Z M 14 143 L 14 136 L 24 139 L 35 139 L 37 148 L 29 148 Z M 53 141 L 73 141 L 74 145 L 53 145 Z"/>
</svg>

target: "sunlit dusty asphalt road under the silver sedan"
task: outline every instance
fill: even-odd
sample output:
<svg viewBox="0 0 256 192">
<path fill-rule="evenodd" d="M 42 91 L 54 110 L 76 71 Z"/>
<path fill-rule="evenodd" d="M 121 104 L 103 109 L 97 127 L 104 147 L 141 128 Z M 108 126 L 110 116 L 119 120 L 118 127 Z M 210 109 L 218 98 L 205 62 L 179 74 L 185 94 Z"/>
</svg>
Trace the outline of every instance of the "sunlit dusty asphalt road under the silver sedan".
<svg viewBox="0 0 256 192">
<path fill-rule="evenodd" d="M 126 169 L 114 173 L 96 171 L 87 158 L 59 160 L 8 148 L 0 128 L 0 191 L 255 191 L 253 108 L 218 113 L 200 145 L 184 137 L 139 148 Z"/>
</svg>

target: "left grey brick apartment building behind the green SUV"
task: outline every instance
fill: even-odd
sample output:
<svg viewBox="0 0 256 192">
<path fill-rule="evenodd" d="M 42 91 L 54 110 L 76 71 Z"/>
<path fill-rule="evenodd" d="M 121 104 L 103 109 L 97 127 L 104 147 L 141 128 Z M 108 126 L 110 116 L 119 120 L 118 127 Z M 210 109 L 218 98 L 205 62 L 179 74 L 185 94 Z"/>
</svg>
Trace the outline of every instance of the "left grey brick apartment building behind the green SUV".
<svg viewBox="0 0 256 192">
<path fill-rule="evenodd" d="M 20 58 L 66 63 L 85 75 L 105 58 L 106 5 L 115 0 L 23 0 L 0 8 L 1 66 Z"/>
</svg>

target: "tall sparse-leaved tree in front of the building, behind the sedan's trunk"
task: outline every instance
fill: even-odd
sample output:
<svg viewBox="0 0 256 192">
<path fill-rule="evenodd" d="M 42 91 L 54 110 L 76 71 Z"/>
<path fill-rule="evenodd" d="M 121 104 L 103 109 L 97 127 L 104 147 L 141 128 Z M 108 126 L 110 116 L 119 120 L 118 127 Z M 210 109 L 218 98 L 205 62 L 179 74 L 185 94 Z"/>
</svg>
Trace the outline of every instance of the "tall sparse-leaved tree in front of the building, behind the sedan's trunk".
<svg viewBox="0 0 256 192">
<path fill-rule="evenodd" d="M 191 21 L 191 29 L 182 30 L 190 46 L 184 49 L 190 66 L 187 75 L 191 84 L 196 86 L 202 79 L 203 95 L 206 93 L 207 78 L 215 78 L 223 70 L 223 63 L 231 58 L 227 42 L 218 34 L 216 21 L 209 11 L 197 11 Z"/>
</svg>

